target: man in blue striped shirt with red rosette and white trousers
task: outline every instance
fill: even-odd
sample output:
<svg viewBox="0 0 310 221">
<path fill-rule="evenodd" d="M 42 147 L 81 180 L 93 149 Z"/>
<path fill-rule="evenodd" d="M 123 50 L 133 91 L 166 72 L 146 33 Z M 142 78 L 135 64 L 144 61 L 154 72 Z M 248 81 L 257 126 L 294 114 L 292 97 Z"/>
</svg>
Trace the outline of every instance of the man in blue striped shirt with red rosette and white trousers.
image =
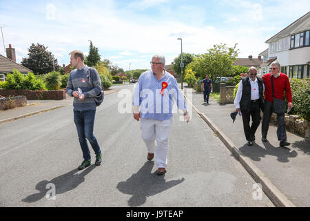
<svg viewBox="0 0 310 221">
<path fill-rule="evenodd" d="M 165 57 L 154 55 L 151 64 L 152 70 L 143 73 L 134 88 L 134 119 L 141 119 L 141 137 L 147 146 L 147 160 L 152 160 L 156 151 L 156 174 L 163 175 L 166 173 L 174 100 L 178 109 L 183 110 L 185 122 L 189 122 L 190 117 L 176 79 L 165 70 Z"/>
</svg>

